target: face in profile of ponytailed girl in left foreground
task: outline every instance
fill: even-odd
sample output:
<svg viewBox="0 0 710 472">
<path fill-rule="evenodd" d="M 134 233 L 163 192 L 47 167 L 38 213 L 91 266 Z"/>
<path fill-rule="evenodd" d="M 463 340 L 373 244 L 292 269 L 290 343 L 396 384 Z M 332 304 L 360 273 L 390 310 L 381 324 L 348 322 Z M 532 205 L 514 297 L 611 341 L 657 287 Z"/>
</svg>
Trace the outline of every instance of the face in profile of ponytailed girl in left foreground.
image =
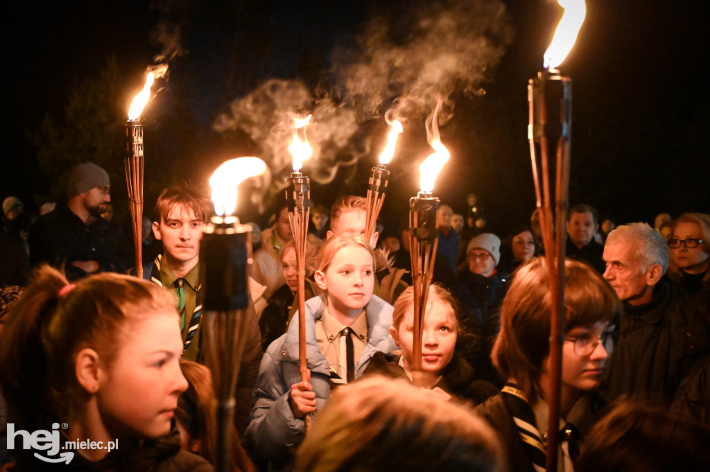
<svg viewBox="0 0 710 472">
<path fill-rule="evenodd" d="M 129 323 L 126 341 L 99 384 L 99 410 L 116 436 L 160 437 L 170 432 L 178 396 L 187 390 L 178 316 L 150 312 Z"/>
</svg>

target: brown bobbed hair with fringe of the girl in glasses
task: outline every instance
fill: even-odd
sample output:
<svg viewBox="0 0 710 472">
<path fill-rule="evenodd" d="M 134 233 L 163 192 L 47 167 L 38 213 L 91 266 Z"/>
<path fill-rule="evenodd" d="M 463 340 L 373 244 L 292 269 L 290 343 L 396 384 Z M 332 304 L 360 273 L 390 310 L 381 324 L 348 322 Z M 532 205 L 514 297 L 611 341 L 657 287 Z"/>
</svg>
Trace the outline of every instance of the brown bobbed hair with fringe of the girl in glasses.
<svg viewBox="0 0 710 472">
<path fill-rule="evenodd" d="M 621 302 L 596 270 L 575 260 L 564 263 L 564 330 L 613 322 Z M 528 400 L 542 392 L 542 363 L 550 353 L 552 293 L 547 263 L 532 258 L 520 268 L 503 299 L 501 331 L 491 358 L 503 379 L 514 378 Z"/>
</svg>

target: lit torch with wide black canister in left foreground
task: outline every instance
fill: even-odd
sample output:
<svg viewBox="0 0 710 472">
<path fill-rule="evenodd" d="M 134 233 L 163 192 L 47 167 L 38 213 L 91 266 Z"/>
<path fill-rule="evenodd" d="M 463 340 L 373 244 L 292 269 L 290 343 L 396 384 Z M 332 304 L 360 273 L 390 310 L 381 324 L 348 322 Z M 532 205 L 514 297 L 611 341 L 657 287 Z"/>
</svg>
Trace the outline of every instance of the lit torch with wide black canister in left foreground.
<svg viewBox="0 0 710 472">
<path fill-rule="evenodd" d="M 244 319 L 251 302 L 246 272 L 251 258 L 251 226 L 239 224 L 239 218 L 232 214 L 237 186 L 265 170 L 266 164 L 259 158 L 236 158 L 220 165 L 209 179 L 216 215 L 202 236 L 200 276 L 204 280 L 203 346 L 217 398 L 215 466 L 219 472 L 231 470 L 229 435 L 234 389 L 244 346 Z"/>
</svg>

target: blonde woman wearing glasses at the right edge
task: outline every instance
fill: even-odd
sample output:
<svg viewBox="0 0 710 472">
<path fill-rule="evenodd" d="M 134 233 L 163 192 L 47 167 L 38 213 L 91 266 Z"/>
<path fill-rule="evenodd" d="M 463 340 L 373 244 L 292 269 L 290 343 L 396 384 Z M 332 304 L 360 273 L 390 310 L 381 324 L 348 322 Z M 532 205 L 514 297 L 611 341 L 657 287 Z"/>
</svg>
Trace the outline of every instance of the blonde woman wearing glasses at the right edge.
<svg viewBox="0 0 710 472">
<path fill-rule="evenodd" d="M 669 275 L 690 295 L 710 322 L 710 215 L 686 213 L 673 222 Z"/>
</svg>

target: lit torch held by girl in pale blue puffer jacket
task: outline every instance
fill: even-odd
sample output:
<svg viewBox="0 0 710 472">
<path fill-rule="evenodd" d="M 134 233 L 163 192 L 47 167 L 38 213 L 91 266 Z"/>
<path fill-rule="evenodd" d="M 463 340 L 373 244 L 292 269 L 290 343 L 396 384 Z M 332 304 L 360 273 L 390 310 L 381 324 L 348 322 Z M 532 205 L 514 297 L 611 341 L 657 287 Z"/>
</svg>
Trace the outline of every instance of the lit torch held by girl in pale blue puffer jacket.
<svg viewBox="0 0 710 472">
<path fill-rule="evenodd" d="M 296 250 L 296 275 L 298 282 L 298 368 L 301 381 L 308 380 L 306 360 L 306 328 L 305 328 L 305 251 L 308 236 L 308 219 L 310 215 L 310 181 L 300 171 L 303 161 L 310 158 L 313 150 L 306 138 L 306 126 L 311 115 L 304 119 L 294 119 L 293 143 L 288 147 L 293 155 L 293 172 L 288 178 L 291 186 L 286 189 L 288 204 L 288 221 L 293 233 L 293 244 Z M 309 419 L 309 417 L 306 417 Z"/>
</svg>

